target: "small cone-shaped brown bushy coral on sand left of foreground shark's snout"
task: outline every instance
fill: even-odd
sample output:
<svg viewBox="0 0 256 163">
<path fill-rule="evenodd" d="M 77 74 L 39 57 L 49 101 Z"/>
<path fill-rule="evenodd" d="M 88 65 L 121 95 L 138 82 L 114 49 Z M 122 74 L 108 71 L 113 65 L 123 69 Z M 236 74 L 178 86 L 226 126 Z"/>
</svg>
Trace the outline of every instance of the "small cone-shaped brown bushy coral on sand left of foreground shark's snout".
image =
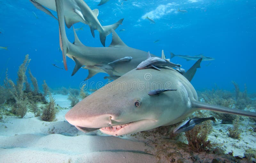
<svg viewBox="0 0 256 163">
<path fill-rule="evenodd" d="M 41 118 L 43 121 L 52 122 L 56 120 L 56 114 L 58 113 L 58 110 L 55 108 L 55 100 L 53 99 L 51 93 L 49 93 L 49 99 L 50 102 L 46 108 L 44 108 Z"/>
</svg>

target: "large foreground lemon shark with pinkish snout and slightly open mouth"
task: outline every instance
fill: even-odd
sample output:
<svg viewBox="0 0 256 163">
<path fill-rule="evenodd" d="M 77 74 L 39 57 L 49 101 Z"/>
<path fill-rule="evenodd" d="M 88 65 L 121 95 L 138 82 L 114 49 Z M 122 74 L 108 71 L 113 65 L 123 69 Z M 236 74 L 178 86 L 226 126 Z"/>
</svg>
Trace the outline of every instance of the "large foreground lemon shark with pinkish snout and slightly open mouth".
<svg viewBox="0 0 256 163">
<path fill-rule="evenodd" d="M 173 91 L 148 94 L 155 89 Z M 83 132 L 120 136 L 181 122 L 196 110 L 256 118 L 255 112 L 199 102 L 187 78 L 168 67 L 133 69 L 77 103 L 65 118 Z"/>
</svg>

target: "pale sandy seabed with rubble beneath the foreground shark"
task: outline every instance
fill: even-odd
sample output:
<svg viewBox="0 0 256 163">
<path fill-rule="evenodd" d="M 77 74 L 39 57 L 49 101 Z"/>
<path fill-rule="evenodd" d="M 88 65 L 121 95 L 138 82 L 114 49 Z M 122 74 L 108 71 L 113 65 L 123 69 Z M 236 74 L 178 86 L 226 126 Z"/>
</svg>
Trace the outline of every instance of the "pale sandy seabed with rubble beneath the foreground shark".
<svg viewBox="0 0 256 163">
<path fill-rule="evenodd" d="M 32 113 L 24 118 L 4 117 L 0 122 L 1 163 L 247 162 L 243 158 L 245 150 L 256 148 L 256 133 L 250 131 L 253 122 L 249 118 L 241 121 L 240 139 L 228 137 L 227 128 L 232 125 L 220 122 L 213 125 L 208 138 L 213 147 L 226 154 L 195 153 L 188 149 L 184 135 L 170 139 L 166 133 L 156 132 L 157 129 L 121 137 L 100 131 L 83 133 L 65 120 L 70 109 L 68 96 L 57 94 L 54 98 L 56 104 L 68 108 L 59 111 L 55 122 L 44 122 Z M 232 151 L 233 156 L 227 154 Z"/>
</svg>

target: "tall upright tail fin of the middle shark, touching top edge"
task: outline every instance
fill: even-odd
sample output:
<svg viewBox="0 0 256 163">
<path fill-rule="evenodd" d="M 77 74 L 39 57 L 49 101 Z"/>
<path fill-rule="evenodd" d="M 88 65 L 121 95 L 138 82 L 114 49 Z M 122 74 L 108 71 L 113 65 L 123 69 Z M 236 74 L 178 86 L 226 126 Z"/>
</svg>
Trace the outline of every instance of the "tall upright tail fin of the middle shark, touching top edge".
<svg viewBox="0 0 256 163">
<path fill-rule="evenodd" d="M 67 50 L 68 50 L 68 38 L 66 35 L 65 30 L 65 19 L 64 19 L 64 10 L 63 10 L 63 1 L 62 0 L 55 0 L 56 3 L 56 10 L 58 14 L 58 21 L 59 21 L 59 34 L 60 34 L 60 49 L 62 51 L 63 63 L 65 70 L 68 70 L 67 66 Z"/>
</svg>

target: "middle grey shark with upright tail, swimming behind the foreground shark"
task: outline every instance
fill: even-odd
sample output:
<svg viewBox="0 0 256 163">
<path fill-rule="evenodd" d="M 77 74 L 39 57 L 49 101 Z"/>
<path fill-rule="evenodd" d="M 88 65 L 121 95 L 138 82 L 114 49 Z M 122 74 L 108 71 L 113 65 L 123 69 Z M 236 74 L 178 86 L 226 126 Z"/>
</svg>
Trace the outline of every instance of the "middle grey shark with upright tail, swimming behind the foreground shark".
<svg viewBox="0 0 256 163">
<path fill-rule="evenodd" d="M 106 73 L 110 76 L 122 76 L 126 72 L 136 68 L 137 65 L 146 58 L 147 52 L 128 47 L 114 30 L 112 31 L 112 42 L 109 47 L 96 48 L 84 46 L 78 39 L 75 30 L 75 41 L 74 43 L 69 42 L 65 31 L 63 7 L 61 7 L 61 3 L 60 5 L 59 3 L 56 4 L 58 5 L 57 13 L 60 29 L 60 48 L 62 49 L 64 66 L 67 68 L 66 55 L 76 62 L 72 75 L 74 75 L 83 65 L 90 66 L 88 67 L 89 75 L 87 77 L 87 79 L 89 79 L 99 72 L 105 72 L 105 66 L 108 65 L 108 68 L 110 69 L 108 69 L 108 72 Z M 133 59 L 126 62 L 119 60 L 124 56 L 130 56 Z M 152 56 L 156 57 L 154 55 Z M 116 62 L 108 64 L 113 61 Z"/>
</svg>

